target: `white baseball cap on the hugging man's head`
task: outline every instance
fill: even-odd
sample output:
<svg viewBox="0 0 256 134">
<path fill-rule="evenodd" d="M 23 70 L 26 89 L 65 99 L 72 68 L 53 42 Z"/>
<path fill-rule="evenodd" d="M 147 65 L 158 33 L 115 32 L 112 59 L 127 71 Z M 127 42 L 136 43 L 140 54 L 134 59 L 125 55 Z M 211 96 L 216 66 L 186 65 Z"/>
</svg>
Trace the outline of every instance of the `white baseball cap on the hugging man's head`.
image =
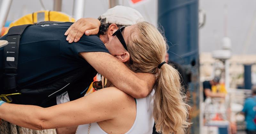
<svg viewBox="0 0 256 134">
<path fill-rule="evenodd" d="M 101 18 L 101 23 L 115 23 L 124 26 L 144 21 L 139 11 L 122 5 L 108 9 L 107 12 L 100 15 L 99 18 Z"/>
</svg>

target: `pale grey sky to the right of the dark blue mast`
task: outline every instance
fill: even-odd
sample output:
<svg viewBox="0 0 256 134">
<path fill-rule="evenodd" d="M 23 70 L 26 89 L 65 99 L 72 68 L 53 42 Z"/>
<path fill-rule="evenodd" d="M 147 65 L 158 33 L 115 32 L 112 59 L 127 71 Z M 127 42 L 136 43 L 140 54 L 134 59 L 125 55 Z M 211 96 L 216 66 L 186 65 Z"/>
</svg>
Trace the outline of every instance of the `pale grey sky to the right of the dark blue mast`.
<svg viewBox="0 0 256 134">
<path fill-rule="evenodd" d="M 228 36 L 233 54 L 256 54 L 256 0 L 201 0 L 199 4 L 206 14 L 206 23 L 199 29 L 201 52 L 221 49 L 222 38 Z"/>
</svg>

